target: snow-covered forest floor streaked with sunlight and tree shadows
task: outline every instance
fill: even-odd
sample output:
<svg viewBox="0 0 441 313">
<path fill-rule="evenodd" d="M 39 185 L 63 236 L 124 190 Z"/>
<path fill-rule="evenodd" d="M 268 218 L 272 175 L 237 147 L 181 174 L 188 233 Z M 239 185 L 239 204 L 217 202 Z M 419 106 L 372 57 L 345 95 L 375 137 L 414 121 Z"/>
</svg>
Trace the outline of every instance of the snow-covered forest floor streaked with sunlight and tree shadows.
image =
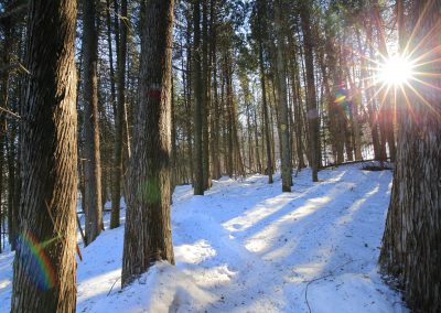
<svg viewBox="0 0 441 313">
<path fill-rule="evenodd" d="M 304 170 L 283 194 L 279 176 L 222 179 L 205 196 L 178 187 L 176 266 L 121 291 L 123 227 L 106 230 L 83 249 L 77 312 L 408 312 L 377 272 L 391 172 L 359 168 L 321 171 L 319 183 Z M 12 259 L 0 255 L 1 312 Z"/>
</svg>

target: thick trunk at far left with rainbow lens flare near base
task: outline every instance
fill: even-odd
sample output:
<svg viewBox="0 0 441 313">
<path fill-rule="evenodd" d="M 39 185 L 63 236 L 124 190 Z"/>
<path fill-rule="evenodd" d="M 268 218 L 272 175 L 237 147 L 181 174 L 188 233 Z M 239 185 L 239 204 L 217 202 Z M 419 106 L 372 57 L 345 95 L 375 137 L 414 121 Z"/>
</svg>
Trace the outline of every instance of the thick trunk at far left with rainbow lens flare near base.
<svg viewBox="0 0 441 313">
<path fill-rule="evenodd" d="M 71 0 L 29 3 L 12 312 L 75 311 L 76 11 Z"/>
</svg>

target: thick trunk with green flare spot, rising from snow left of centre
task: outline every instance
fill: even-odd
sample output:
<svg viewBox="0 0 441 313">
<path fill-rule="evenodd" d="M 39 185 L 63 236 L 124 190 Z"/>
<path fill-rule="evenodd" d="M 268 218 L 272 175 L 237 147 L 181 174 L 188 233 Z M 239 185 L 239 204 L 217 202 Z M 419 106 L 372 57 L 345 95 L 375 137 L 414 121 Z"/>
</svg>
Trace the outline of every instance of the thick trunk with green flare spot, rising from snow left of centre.
<svg viewBox="0 0 441 313">
<path fill-rule="evenodd" d="M 129 168 L 122 285 L 155 261 L 174 263 L 170 224 L 173 4 L 173 0 L 146 3 L 140 93 Z"/>
</svg>

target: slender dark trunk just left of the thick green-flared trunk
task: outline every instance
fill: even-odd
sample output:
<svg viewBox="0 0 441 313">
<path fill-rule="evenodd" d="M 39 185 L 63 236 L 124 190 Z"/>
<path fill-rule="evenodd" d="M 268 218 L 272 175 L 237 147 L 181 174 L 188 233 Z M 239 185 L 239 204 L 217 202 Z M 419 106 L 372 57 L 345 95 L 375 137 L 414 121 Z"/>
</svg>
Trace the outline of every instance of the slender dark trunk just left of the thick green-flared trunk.
<svg viewBox="0 0 441 313">
<path fill-rule="evenodd" d="M 121 19 L 127 19 L 127 0 L 121 1 Z M 121 184 L 122 184 L 122 136 L 126 102 L 126 55 L 127 55 L 127 23 L 120 24 L 119 54 L 118 54 L 118 102 L 115 117 L 115 154 L 114 176 L 111 182 L 111 216 L 110 228 L 119 226 Z"/>
</svg>

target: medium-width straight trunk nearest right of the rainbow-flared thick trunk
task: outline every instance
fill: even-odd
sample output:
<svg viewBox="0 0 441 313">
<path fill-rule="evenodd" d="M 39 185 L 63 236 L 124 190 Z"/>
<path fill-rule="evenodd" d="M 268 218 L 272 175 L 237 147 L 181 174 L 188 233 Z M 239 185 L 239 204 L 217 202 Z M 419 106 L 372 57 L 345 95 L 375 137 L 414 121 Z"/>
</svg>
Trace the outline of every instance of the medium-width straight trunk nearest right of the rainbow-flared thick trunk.
<svg viewBox="0 0 441 313">
<path fill-rule="evenodd" d="M 101 161 L 98 123 L 98 32 L 95 23 L 95 1 L 83 1 L 84 52 L 84 153 L 86 245 L 95 240 L 103 228 Z"/>
</svg>

